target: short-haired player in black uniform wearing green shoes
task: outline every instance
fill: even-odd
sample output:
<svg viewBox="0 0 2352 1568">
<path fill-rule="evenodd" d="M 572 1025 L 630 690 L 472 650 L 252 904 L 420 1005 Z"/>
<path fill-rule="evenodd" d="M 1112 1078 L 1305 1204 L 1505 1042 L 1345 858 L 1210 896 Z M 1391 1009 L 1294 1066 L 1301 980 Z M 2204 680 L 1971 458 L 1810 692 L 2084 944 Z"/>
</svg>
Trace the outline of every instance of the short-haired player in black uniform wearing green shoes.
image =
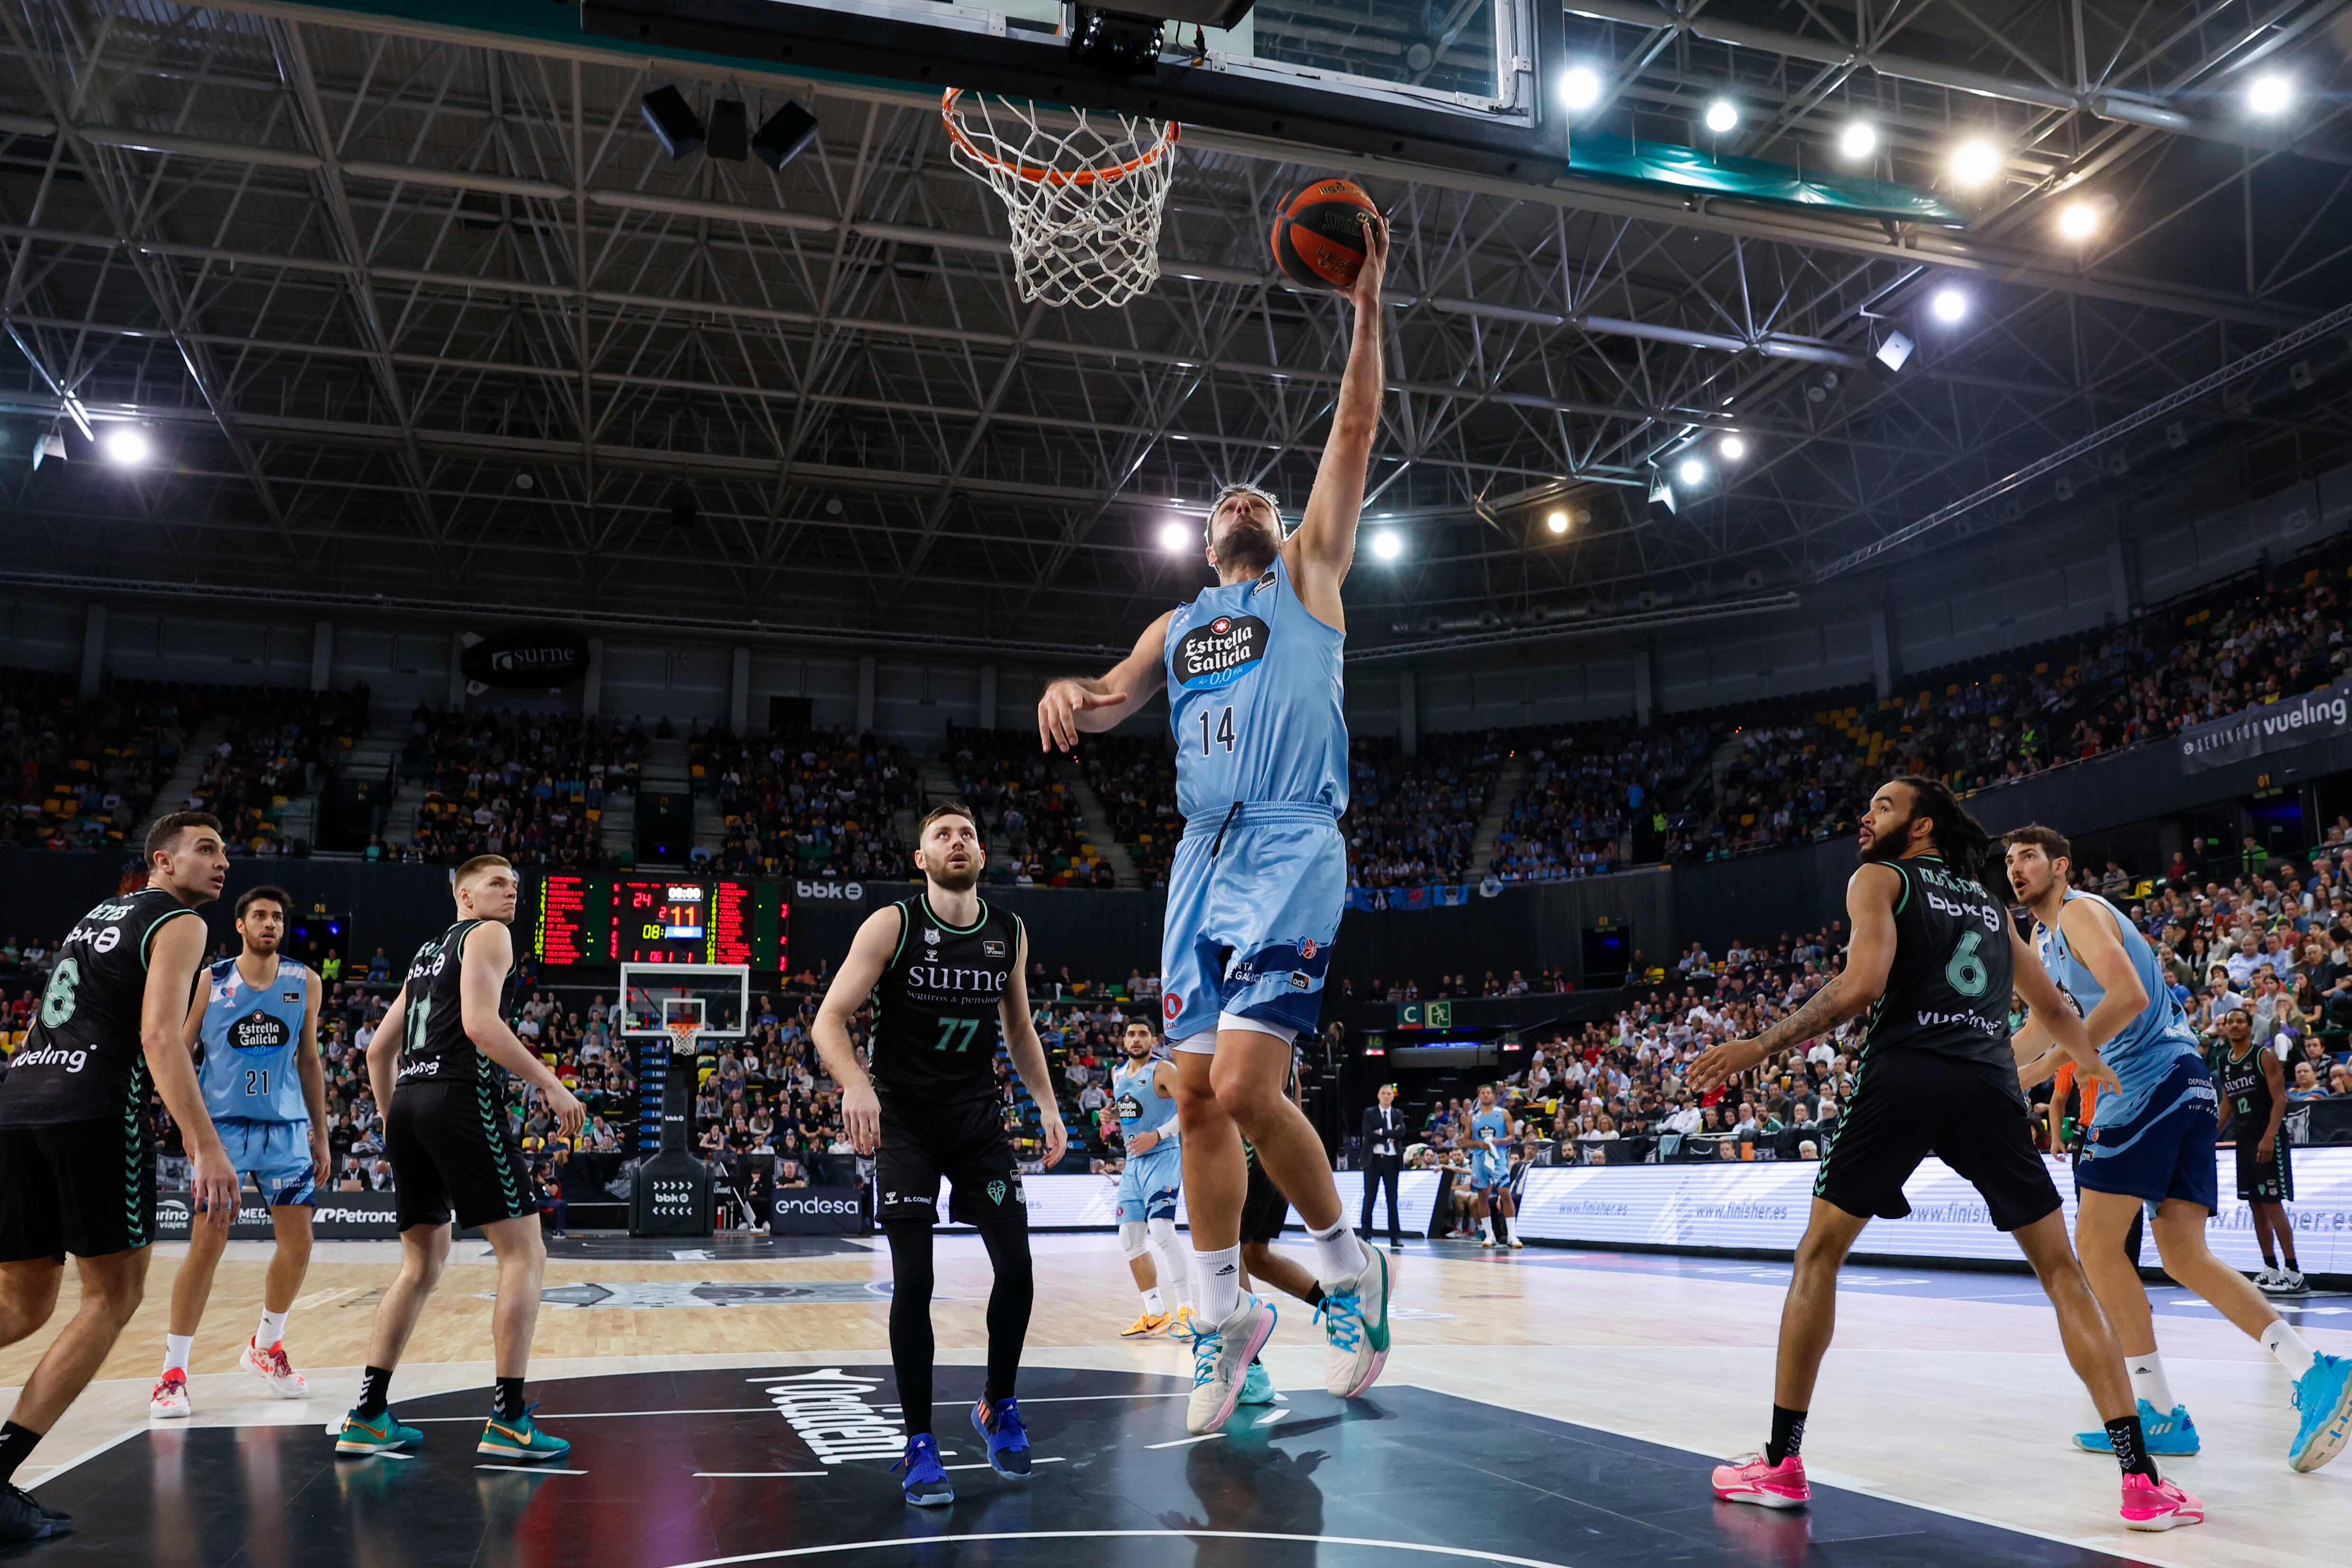
<svg viewBox="0 0 2352 1568">
<path fill-rule="evenodd" d="M 532 1465 L 560 1460 L 572 1443 L 541 1432 L 522 1403 L 539 1326 L 539 1281 L 548 1246 L 539 1201 L 508 1126 L 506 1079 L 534 1086 L 562 1138 L 576 1138 L 588 1110 L 506 1023 L 515 1013 L 515 867 L 475 856 L 449 879 L 456 924 L 416 950 L 409 978 L 367 1041 L 367 1081 L 383 1105 L 383 1154 L 393 1161 L 400 1274 L 376 1305 L 360 1403 L 343 1418 L 336 1453 L 416 1448 L 423 1432 L 390 1410 L 393 1368 L 416 1331 L 416 1314 L 449 1262 L 449 1215 L 480 1229 L 499 1255 L 499 1305 L 489 1316 L 496 1392 L 475 1453 Z M 395 1077 L 397 1074 L 397 1077 Z"/>
</svg>

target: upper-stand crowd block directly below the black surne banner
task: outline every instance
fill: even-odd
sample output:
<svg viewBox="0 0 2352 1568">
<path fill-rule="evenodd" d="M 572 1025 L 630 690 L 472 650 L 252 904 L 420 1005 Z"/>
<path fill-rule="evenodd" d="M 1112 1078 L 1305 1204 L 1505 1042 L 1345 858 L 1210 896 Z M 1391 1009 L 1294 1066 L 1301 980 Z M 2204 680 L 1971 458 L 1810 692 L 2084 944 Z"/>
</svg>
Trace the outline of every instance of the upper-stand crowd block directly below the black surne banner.
<svg viewBox="0 0 2352 1568">
<path fill-rule="evenodd" d="M 400 858 L 454 865 L 492 853 L 520 867 L 609 865 L 604 802 L 635 795 L 647 745 L 637 722 L 419 703 L 400 776 L 421 780 L 426 799 Z"/>
</svg>

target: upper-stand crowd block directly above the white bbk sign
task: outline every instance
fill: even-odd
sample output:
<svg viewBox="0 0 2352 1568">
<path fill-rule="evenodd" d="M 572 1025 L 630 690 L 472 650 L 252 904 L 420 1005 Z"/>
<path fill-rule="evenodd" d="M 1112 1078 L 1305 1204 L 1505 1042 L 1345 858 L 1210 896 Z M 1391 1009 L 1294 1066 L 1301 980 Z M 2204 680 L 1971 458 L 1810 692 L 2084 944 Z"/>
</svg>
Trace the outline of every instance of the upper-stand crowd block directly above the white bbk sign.
<svg viewBox="0 0 2352 1568">
<path fill-rule="evenodd" d="M 910 877 L 898 811 L 917 811 L 922 780 L 906 748 L 811 729 L 736 736 L 696 726 L 687 738 L 694 792 L 727 816 L 717 870 L 743 877 Z"/>
</svg>

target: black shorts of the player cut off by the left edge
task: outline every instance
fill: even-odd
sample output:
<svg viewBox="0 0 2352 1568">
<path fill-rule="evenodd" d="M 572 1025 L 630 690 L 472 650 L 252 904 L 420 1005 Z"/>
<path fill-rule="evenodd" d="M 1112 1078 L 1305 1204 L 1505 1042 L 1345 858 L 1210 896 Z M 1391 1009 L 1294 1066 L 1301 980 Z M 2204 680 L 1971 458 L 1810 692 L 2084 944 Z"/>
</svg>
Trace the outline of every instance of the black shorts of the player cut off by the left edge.
<svg viewBox="0 0 2352 1568">
<path fill-rule="evenodd" d="M 108 1258 L 155 1239 L 143 1119 L 0 1128 L 0 1262 Z"/>
</svg>

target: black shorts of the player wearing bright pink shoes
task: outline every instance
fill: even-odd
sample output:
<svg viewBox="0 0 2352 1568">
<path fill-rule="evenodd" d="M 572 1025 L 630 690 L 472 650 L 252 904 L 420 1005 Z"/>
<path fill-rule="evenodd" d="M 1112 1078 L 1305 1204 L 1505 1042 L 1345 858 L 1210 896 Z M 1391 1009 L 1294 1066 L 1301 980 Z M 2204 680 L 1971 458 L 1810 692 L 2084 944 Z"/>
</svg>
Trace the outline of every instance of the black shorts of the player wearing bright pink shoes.
<svg viewBox="0 0 2352 1568">
<path fill-rule="evenodd" d="M 1813 1197 L 1865 1220 L 1900 1220 L 1903 1182 L 1933 1154 L 1983 1194 L 1994 1229 L 2032 1225 L 2058 1211 L 2058 1185 L 2025 1117 L 2013 1072 L 1938 1051 L 1870 1056 Z"/>
</svg>

